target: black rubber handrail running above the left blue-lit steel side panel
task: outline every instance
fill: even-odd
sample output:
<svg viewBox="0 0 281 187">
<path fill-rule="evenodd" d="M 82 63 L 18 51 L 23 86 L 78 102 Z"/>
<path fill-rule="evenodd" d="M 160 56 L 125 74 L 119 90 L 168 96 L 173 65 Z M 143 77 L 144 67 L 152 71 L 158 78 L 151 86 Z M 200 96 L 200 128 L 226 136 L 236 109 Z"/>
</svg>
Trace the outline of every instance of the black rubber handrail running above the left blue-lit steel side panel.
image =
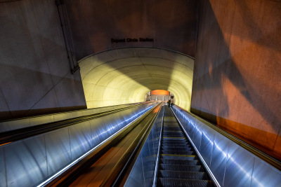
<svg viewBox="0 0 281 187">
<path fill-rule="evenodd" d="M 145 103 L 143 103 L 145 104 Z M 101 113 L 94 113 L 87 116 L 80 116 L 76 118 L 70 118 L 67 120 L 59 120 L 51 123 L 44 123 L 41 125 L 34 125 L 31 127 L 24 127 L 17 130 L 10 130 L 8 132 L 1 132 L 0 133 L 0 146 L 10 144 L 14 141 L 19 141 L 21 139 L 26 139 L 28 137 L 33 137 L 35 135 L 43 134 L 46 132 L 51 132 L 53 130 L 58 130 L 63 127 L 67 127 L 70 125 L 75 125 L 77 123 L 82 123 L 87 120 L 93 120 L 95 118 L 100 118 L 103 116 L 107 116 L 112 113 L 117 113 L 118 111 L 124 111 L 126 109 L 131 109 L 136 106 L 141 106 L 143 104 L 136 104 L 132 106 L 127 106 L 122 109 L 114 109 L 112 111 L 105 111 Z"/>
</svg>

